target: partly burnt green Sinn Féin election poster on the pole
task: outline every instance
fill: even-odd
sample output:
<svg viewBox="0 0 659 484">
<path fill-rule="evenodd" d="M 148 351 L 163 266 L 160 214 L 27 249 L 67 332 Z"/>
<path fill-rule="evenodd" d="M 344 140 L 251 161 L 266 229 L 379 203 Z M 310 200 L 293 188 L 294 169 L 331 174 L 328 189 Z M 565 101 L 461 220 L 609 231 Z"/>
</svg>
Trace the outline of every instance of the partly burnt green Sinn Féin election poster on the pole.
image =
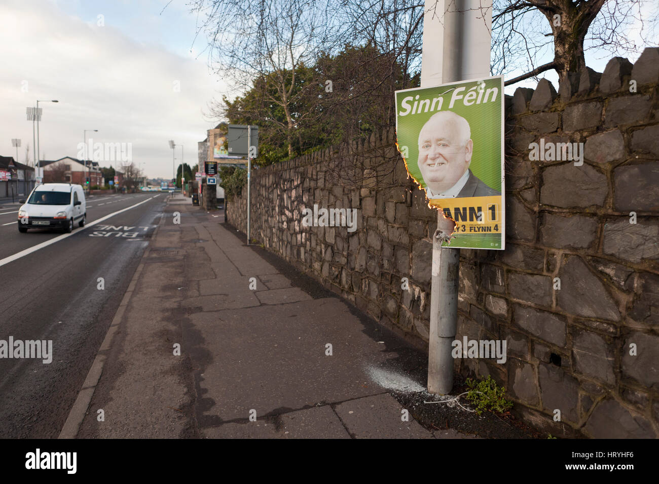
<svg viewBox="0 0 659 484">
<path fill-rule="evenodd" d="M 501 76 L 396 92 L 407 172 L 455 221 L 445 247 L 504 248 L 503 97 Z"/>
</svg>

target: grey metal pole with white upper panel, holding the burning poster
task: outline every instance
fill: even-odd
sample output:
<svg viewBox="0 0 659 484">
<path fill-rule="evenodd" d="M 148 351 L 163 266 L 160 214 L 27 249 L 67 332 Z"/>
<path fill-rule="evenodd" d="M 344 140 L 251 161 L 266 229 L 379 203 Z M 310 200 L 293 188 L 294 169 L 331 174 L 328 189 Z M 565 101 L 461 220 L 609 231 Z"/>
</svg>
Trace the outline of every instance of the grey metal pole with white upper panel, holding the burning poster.
<svg viewBox="0 0 659 484">
<path fill-rule="evenodd" d="M 430 7 L 430 1 L 425 6 Z M 491 0 L 447 1 L 443 16 L 430 8 L 424 15 L 421 87 L 490 75 Z M 453 389 L 460 249 L 443 242 L 450 240 L 454 229 L 455 222 L 438 210 L 432 242 L 428 391 L 441 395 Z"/>
</svg>

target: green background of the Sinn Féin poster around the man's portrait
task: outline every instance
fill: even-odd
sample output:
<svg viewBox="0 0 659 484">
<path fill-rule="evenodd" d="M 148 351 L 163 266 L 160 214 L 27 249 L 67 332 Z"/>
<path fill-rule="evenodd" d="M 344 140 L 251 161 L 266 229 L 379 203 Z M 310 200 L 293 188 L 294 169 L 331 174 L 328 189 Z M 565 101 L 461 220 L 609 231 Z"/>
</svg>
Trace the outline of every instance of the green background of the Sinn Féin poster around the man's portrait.
<svg viewBox="0 0 659 484">
<path fill-rule="evenodd" d="M 479 88 L 479 84 L 484 83 L 484 87 Z M 451 103 L 451 96 L 453 91 L 457 88 L 464 87 L 465 90 L 461 91 L 463 97 L 457 99 L 453 103 L 453 107 L 449 109 Z M 478 90 L 483 90 L 481 102 L 476 104 L 478 97 L 473 100 L 472 105 L 465 105 L 465 96 L 472 88 L 476 88 L 474 92 L 478 94 Z M 483 102 L 486 93 L 489 89 L 496 88 L 496 100 L 492 101 L 492 93 L 488 97 L 488 102 Z M 403 155 L 407 149 L 408 156 L 405 157 L 405 164 L 407 171 L 416 182 L 426 188 L 420 170 L 418 169 L 418 134 L 423 125 L 434 115 L 440 111 L 453 111 L 453 113 L 460 115 L 469 122 L 471 129 L 471 140 L 473 140 L 473 155 L 469 169 L 475 176 L 480 178 L 485 184 L 494 188 L 498 192 L 501 190 L 502 181 L 502 165 L 503 165 L 503 78 L 501 76 L 488 78 L 484 80 L 469 80 L 463 82 L 456 82 L 453 84 L 444 84 L 432 88 L 416 88 L 396 92 L 396 134 L 399 150 Z M 418 99 L 416 99 L 418 95 Z M 430 100 L 432 106 L 432 99 L 442 97 L 442 108 L 424 112 L 425 109 L 420 109 L 420 113 L 412 113 L 401 115 L 401 111 L 407 111 L 403 107 L 403 100 L 406 97 L 412 96 L 413 99 L 409 105 L 414 106 L 415 101 L 418 101 L 420 106 L 421 101 L 424 99 Z M 471 101 L 471 100 L 470 100 Z M 417 108 L 418 109 L 418 108 Z M 503 196 L 501 197 L 501 207 L 503 209 Z M 456 237 L 451 241 L 451 247 L 457 248 L 483 248 L 483 249 L 502 249 L 503 248 L 504 234 L 456 234 Z M 492 244 L 496 241 L 496 246 Z"/>
</svg>

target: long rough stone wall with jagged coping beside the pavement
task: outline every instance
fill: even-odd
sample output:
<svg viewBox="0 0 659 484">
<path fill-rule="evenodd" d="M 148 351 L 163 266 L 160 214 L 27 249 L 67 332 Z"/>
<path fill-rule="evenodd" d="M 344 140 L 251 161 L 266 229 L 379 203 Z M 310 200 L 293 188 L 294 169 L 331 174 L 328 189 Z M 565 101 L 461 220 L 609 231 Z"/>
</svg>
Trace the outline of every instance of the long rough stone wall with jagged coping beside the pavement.
<svg viewBox="0 0 659 484">
<path fill-rule="evenodd" d="M 456 370 L 492 375 L 553 435 L 659 437 L 658 82 L 653 48 L 635 65 L 571 74 L 558 93 L 542 80 L 508 96 L 506 250 L 461 250 L 457 337 L 505 339 L 508 358 Z M 584 143 L 583 165 L 530 161 L 540 139 Z M 391 129 L 254 171 L 252 238 L 427 346 L 436 212 L 394 142 Z M 391 173 L 337 182 L 331 168 L 355 155 L 392 157 Z M 357 230 L 302 227 L 314 203 L 358 209 Z M 243 232 L 245 210 L 244 198 L 228 203 Z"/>
</svg>

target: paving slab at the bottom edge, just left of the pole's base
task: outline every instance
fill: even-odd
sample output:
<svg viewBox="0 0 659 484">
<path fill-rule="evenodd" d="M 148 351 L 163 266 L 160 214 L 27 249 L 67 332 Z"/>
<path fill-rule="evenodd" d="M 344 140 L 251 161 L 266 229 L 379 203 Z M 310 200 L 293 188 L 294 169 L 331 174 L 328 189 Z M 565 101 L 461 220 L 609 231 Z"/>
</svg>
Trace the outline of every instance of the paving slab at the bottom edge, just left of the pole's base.
<svg viewBox="0 0 659 484">
<path fill-rule="evenodd" d="M 432 439 L 432 433 L 409 416 L 402 421 L 403 407 L 389 394 L 357 398 L 335 406 L 337 415 L 355 439 Z"/>
</svg>

